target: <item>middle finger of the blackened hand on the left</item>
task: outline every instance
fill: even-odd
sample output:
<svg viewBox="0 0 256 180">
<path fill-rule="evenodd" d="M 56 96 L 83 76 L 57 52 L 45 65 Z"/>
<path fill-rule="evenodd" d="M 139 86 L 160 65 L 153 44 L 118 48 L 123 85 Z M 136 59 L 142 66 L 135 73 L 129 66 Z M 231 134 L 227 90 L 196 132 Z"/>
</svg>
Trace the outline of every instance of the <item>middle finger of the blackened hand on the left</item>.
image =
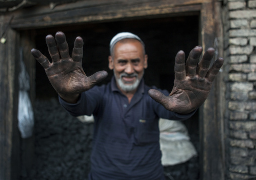
<svg viewBox="0 0 256 180">
<path fill-rule="evenodd" d="M 65 34 L 62 33 L 62 32 L 57 32 L 56 35 L 55 35 L 55 39 L 56 39 L 56 42 L 57 42 L 58 51 L 59 51 L 61 59 L 70 58 L 69 46 L 68 46 L 68 43 L 66 41 Z"/>
</svg>

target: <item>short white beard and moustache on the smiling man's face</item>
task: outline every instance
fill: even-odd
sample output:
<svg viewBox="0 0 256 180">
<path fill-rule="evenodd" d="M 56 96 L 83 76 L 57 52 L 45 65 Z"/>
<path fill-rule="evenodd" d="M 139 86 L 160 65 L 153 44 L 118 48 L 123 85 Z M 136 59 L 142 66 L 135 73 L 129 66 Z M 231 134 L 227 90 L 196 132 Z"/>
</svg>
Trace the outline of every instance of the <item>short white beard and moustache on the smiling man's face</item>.
<svg viewBox="0 0 256 180">
<path fill-rule="evenodd" d="M 143 74 L 144 74 L 144 72 L 143 72 Z M 125 92 L 129 92 L 129 91 L 133 91 L 133 90 L 135 90 L 138 86 L 139 86 L 139 84 L 140 84 L 140 82 L 141 82 L 141 79 L 142 78 L 138 78 L 138 74 L 137 73 L 133 73 L 132 75 L 128 75 L 128 74 L 126 74 L 126 73 L 122 73 L 122 74 L 120 74 L 120 76 L 119 76 L 119 78 L 117 78 L 117 76 L 116 76 L 116 73 L 115 73 L 115 70 L 114 70 L 114 76 L 115 76 L 115 80 L 116 80 L 116 82 L 117 82 L 117 84 L 118 84 L 118 86 L 123 90 L 123 91 L 125 91 Z M 133 84 L 124 84 L 123 82 L 122 82 L 122 77 L 123 76 L 127 76 L 127 77 L 136 77 L 136 81 L 133 83 Z M 143 77 L 143 76 L 142 76 Z"/>
</svg>

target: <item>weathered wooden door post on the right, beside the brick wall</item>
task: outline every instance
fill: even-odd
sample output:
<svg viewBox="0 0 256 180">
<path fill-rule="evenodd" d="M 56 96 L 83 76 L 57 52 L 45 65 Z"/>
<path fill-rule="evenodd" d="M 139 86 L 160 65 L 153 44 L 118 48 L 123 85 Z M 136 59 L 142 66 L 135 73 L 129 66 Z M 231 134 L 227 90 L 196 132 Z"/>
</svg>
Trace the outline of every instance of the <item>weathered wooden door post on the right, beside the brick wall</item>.
<svg viewBox="0 0 256 180">
<path fill-rule="evenodd" d="M 218 6 L 215 6 L 214 1 L 202 5 L 201 38 L 204 51 L 209 47 L 214 47 L 216 40 L 217 24 L 214 19 L 216 7 Z M 201 179 L 204 180 L 224 180 L 225 176 L 222 146 L 223 127 L 221 125 L 223 119 L 221 119 L 221 109 L 218 107 L 220 97 L 218 94 L 220 82 L 218 81 L 221 81 L 220 78 L 215 79 L 207 100 L 200 108 Z"/>
</svg>

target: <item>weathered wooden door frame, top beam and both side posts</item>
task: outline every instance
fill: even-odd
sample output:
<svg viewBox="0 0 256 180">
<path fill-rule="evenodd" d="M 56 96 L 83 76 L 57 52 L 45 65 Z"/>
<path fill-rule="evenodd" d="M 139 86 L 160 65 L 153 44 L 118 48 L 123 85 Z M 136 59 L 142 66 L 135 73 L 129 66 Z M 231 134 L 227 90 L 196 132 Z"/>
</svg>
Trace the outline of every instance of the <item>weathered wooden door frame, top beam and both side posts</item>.
<svg viewBox="0 0 256 180">
<path fill-rule="evenodd" d="M 35 31 L 39 28 L 53 26 L 68 26 L 72 24 L 82 23 L 100 23 L 118 20 L 143 19 L 153 17 L 171 17 L 193 15 L 198 13 L 200 16 L 200 42 L 204 50 L 208 47 L 214 47 L 216 39 L 219 46 L 216 47 L 220 55 L 222 55 L 222 26 L 220 17 L 221 2 L 215 0 L 96 0 L 96 1 L 79 1 L 76 3 L 65 4 L 50 9 L 48 6 L 32 7 L 16 11 L 4 16 L 0 19 L 0 25 L 8 25 L 6 19 L 13 17 L 10 28 L 8 30 L 9 39 L 7 44 L 0 45 L 0 52 L 6 51 L 9 47 L 9 53 L 6 54 L 6 59 L 13 63 L 12 68 L 17 68 L 17 49 L 13 47 L 14 42 L 20 42 L 19 45 L 28 43 L 28 47 L 33 46 L 33 37 L 27 35 L 21 38 L 20 31 L 31 30 Z M 214 18 L 215 15 L 215 18 Z M 2 16 L 3 17 L 3 16 Z M 3 21 L 1 21 L 3 20 Z M 9 25 L 8 25 L 9 26 Z M 2 26 L 3 27 L 3 26 Z M 32 39 L 30 39 L 32 38 Z M 23 40 L 22 40 L 23 39 Z M 23 42 L 23 43 L 22 43 Z M 29 44 L 30 42 L 30 44 Z M 16 56 L 15 56 L 16 55 Z M 24 52 L 29 65 L 33 60 L 28 51 Z M 0 63 L 6 62 L 5 58 L 0 57 Z M 30 62 L 29 62 L 30 61 Z M 33 66 L 33 63 L 32 63 Z M 30 64 L 31 67 L 31 64 Z M 0 77 L 1 81 L 9 78 L 11 84 L 5 84 L 7 93 L 4 100 L 11 99 L 10 105 L 7 106 L 7 112 L 10 116 L 0 113 L 3 120 L 0 122 L 0 133 L 4 134 L 4 138 L 0 141 L 0 180 L 2 179 L 18 179 L 18 175 L 10 175 L 11 172 L 21 169 L 20 163 L 14 165 L 13 160 L 20 155 L 20 150 L 14 149 L 20 146 L 20 140 L 14 140 L 17 135 L 17 81 L 10 79 L 15 70 L 9 68 L 9 76 Z M 31 67 L 33 69 L 33 67 Z M 30 71 L 30 76 L 35 77 L 35 72 Z M 17 76 L 15 76 L 17 77 Z M 212 91 L 208 99 L 200 107 L 200 141 L 201 141 L 201 179 L 224 179 L 225 172 L 225 149 L 223 144 L 223 108 L 219 108 L 222 104 L 220 100 L 220 82 L 222 82 L 221 74 L 217 77 Z M 33 84 L 33 82 L 31 82 Z M 32 92 L 34 87 L 32 86 Z M 35 91 L 34 91 L 35 92 Z M 33 94 L 31 95 L 33 99 Z M 11 115 L 12 114 L 12 115 Z M 5 124 L 9 131 L 1 129 Z M 18 133 L 19 134 L 19 133 Z M 8 144 L 7 146 L 3 144 Z M 3 155 L 8 155 L 10 158 L 5 158 Z M 3 167 L 3 168 L 2 168 Z M 20 172 L 19 172 L 20 173 Z M 5 175 L 2 175 L 5 174 Z"/>
</svg>

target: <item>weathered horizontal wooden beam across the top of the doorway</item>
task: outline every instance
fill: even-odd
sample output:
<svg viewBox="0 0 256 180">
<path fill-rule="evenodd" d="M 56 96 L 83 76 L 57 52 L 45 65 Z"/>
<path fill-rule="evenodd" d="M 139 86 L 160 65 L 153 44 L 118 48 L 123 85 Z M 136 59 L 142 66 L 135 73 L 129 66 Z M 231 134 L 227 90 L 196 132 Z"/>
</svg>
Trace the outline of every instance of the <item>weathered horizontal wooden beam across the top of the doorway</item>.
<svg viewBox="0 0 256 180">
<path fill-rule="evenodd" d="M 88 5 L 88 2 L 85 1 L 72 4 L 71 7 L 73 8 L 70 8 L 70 5 L 62 5 L 52 12 L 49 12 L 49 8 L 45 7 L 37 11 L 26 9 L 26 12 L 17 12 L 14 15 L 11 27 L 17 29 L 40 28 L 95 21 L 113 21 L 123 18 L 199 12 L 201 3 L 202 1 L 199 0 L 95 1 L 93 6 L 92 4 Z"/>
</svg>

